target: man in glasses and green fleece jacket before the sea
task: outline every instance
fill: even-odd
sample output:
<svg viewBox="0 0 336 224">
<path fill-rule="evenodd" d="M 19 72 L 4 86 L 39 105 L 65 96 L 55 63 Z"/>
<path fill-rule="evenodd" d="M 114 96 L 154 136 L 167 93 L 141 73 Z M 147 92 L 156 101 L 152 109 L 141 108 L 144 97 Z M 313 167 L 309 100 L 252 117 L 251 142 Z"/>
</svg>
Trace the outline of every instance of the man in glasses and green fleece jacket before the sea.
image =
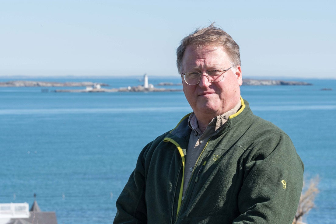
<svg viewBox="0 0 336 224">
<path fill-rule="evenodd" d="M 293 221 L 303 164 L 290 138 L 240 97 L 239 46 L 210 25 L 177 49 L 193 109 L 141 151 L 114 223 Z"/>
</svg>

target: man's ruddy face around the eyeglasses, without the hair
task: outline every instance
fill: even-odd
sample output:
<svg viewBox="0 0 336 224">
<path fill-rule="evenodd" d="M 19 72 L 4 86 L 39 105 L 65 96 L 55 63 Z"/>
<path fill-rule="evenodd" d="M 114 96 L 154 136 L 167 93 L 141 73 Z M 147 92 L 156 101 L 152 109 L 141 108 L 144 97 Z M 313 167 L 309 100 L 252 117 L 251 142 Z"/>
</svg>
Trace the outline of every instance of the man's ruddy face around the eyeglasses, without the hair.
<svg viewBox="0 0 336 224">
<path fill-rule="evenodd" d="M 206 72 L 213 68 L 228 69 L 230 59 L 221 46 L 204 46 L 196 49 L 187 46 L 182 59 L 182 73 Z M 183 92 L 197 119 L 205 121 L 224 114 L 234 108 L 240 99 L 242 73 L 240 65 L 229 69 L 220 82 L 210 82 L 206 74 L 201 74 L 197 85 L 188 85 L 182 78 Z"/>
</svg>

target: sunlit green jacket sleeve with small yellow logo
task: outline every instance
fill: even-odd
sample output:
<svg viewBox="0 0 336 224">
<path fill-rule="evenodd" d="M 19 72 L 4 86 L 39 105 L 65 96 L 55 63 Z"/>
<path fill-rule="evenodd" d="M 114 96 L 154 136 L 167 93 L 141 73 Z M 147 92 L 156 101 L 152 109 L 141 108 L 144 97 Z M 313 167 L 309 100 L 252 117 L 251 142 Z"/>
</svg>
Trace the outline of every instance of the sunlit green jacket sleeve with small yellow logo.
<svg viewBox="0 0 336 224">
<path fill-rule="evenodd" d="M 269 134 L 246 151 L 234 224 L 291 224 L 303 184 L 303 163 L 290 138 Z"/>
</svg>

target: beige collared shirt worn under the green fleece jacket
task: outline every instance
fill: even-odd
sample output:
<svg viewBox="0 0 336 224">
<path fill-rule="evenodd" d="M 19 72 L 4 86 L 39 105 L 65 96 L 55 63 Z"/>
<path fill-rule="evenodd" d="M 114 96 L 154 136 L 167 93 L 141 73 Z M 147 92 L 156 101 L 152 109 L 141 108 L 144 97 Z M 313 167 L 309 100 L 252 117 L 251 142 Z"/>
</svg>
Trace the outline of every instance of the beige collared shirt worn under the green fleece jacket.
<svg viewBox="0 0 336 224">
<path fill-rule="evenodd" d="M 214 136 L 219 128 L 223 126 L 230 115 L 235 114 L 241 107 L 241 101 L 231 110 L 226 113 L 219 115 L 212 119 L 209 125 L 206 127 L 204 132 L 199 129 L 197 118 L 194 113 L 189 116 L 188 125 L 192 129 L 189 138 L 189 144 L 187 148 L 187 153 L 185 155 L 185 170 L 184 170 L 184 182 L 183 182 L 183 197 L 185 195 L 185 190 L 191 178 L 191 174 L 196 166 L 196 161 L 200 156 L 205 144 L 208 142 L 209 138 Z"/>
</svg>

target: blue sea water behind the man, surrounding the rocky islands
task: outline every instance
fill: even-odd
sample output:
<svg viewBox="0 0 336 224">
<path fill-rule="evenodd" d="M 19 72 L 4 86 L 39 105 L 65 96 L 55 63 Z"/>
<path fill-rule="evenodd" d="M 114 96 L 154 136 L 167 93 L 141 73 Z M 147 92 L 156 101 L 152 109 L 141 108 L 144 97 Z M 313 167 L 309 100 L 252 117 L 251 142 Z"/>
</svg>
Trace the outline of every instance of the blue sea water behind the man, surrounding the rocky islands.
<svg viewBox="0 0 336 224">
<path fill-rule="evenodd" d="M 180 82 L 151 78 L 149 82 Z M 12 79 L 0 79 L 0 82 Z M 109 88 L 138 78 L 44 78 L 92 81 Z M 305 178 L 319 176 L 308 224 L 336 219 L 336 80 L 299 80 L 312 86 L 242 86 L 254 114 L 291 137 Z M 83 87 L 76 87 L 83 88 Z M 181 89 L 181 86 L 173 88 Z M 323 88 L 332 88 L 323 91 Z M 107 224 L 140 150 L 191 112 L 183 92 L 55 93 L 45 87 L 0 88 L 0 203 L 55 211 L 59 224 Z M 286 205 L 284 205 L 286 206 Z"/>
</svg>

